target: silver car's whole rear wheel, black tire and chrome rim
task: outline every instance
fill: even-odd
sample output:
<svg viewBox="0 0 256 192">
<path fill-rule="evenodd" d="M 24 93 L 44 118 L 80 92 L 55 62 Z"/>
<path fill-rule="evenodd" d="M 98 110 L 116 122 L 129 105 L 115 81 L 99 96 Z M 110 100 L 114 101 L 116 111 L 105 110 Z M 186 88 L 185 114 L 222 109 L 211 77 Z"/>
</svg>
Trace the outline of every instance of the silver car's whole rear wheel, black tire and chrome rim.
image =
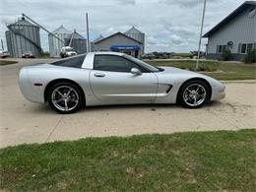
<svg viewBox="0 0 256 192">
<path fill-rule="evenodd" d="M 69 82 L 56 83 L 49 89 L 47 93 L 47 101 L 49 106 L 58 113 L 68 114 L 76 112 L 85 103 L 83 91 L 81 91 L 81 89 L 76 85 Z M 58 93 L 61 93 L 62 96 Z M 56 99 L 56 97 L 58 97 L 57 100 L 60 101 L 54 103 L 53 100 Z M 65 107 L 66 104 L 69 108 Z"/>
</svg>

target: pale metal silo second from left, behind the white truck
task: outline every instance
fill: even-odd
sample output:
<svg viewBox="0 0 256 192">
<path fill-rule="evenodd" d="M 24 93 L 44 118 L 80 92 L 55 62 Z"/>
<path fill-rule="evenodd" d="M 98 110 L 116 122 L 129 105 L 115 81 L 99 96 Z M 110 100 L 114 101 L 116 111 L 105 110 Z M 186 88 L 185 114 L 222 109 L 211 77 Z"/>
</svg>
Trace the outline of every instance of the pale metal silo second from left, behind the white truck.
<svg viewBox="0 0 256 192">
<path fill-rule="evenodd" d="M 64 41 L 65 38 L 68 38 L 70 35 L 70 31 L 66 30 L 63 25 L 61 25 L 58 29 L 52 32 L 56 36 L 58 36 L 60 39 L 63 40 L 60 41 L 58 38 L 54 37 L 52 34 L 48 34 L 48 40 L 49 40 L 49 52 L 51 57 L 60 57 L 60 51 L 63 46 L 65 46 Z"/>
</svg>

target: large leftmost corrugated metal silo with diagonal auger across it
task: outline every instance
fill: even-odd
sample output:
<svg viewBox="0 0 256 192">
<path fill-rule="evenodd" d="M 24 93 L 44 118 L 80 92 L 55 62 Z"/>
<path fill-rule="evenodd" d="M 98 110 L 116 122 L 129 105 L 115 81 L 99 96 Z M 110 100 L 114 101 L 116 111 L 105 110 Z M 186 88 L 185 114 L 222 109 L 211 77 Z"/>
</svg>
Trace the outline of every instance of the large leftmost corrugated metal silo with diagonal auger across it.
<svg viewBox="0 0 256 192">
<path fill-rule="evenodd" d="M 39 56 L 42 51 L 40 47 L 39 28 L 32 23 L 22 19 L 8 25 L 6 34 L 7 48 L 12 57 L 21 57 L 26 51 L 32 51 L 34 56 Z"/>
</svg>

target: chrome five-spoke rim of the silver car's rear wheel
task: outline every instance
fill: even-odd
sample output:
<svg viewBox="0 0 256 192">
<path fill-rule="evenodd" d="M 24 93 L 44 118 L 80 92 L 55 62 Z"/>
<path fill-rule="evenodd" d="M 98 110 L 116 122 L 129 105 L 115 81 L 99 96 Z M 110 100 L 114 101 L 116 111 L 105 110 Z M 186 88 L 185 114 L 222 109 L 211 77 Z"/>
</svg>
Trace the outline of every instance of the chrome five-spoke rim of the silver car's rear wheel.
<svg viewBox="0 0 256 192">
<path fill-rule="evenodd" d="M 67 112 L 77 107 L 79 95 L 77 91 L 70 86 L 60 86 L 53 90 L 51 102 L 57 109 Z"/>
</svg>

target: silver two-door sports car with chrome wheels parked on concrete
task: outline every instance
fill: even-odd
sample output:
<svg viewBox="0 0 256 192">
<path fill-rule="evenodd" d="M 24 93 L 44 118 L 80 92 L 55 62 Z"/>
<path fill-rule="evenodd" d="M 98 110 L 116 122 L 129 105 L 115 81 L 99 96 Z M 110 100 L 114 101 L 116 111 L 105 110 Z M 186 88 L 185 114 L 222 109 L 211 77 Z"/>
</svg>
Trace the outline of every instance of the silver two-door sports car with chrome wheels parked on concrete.
<svg viewBox="0 0 256 192">
<path fill-rule="evenodd" d="M 20 72 L 23 95 L 60 113 L 102 104 L 179 103 L 198 108 L 224 98 L 224 85 L 191 71 L 154 67 L 117 52 L 91 52 Z"/>
</svg>

